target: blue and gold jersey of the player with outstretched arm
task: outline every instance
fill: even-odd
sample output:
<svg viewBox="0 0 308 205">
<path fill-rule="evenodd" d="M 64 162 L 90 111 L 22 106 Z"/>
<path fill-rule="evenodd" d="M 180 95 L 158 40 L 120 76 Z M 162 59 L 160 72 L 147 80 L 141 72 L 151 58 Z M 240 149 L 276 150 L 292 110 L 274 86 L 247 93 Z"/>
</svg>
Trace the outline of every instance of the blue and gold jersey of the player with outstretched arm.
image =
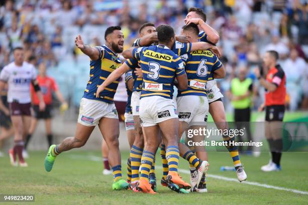
<svg viewBox="0 0 308 205">
<path fill-rule="evenodd" d="M 110 50 L 106 45 L 96 46 L 95 48 L 100 52 L 100 56 L 98 60 L 90 61 L 90 80 L 83 97 L 113 103 L 113 97 L 120 78 L 108 85 L 100 93 L 100 97 L 96 97 L 96 91 L 97 87 L 106 80 L 109 74 L 121 66 L 121 60 L 119 55 Z"/>
</svg>

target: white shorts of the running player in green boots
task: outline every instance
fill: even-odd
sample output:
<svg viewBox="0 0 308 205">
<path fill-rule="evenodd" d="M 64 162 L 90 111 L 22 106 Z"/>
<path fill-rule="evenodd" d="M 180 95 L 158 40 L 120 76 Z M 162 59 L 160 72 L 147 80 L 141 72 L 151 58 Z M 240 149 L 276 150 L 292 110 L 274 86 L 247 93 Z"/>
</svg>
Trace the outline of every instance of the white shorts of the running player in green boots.
<svg viewBox="0 0 308 205">
<path fill-rule="evenodd" d="M 83 97 L 80 101 L 78 123 L 96 126 L 102 118 L 119 119 L 115 105 Z"/>
</svg>

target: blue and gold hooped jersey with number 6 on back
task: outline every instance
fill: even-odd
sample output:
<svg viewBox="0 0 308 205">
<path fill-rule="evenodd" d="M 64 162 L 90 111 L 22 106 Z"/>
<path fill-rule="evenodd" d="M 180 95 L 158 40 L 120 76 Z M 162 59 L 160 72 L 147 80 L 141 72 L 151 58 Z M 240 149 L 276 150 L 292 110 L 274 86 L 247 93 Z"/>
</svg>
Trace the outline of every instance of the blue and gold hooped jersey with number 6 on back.
<svg viewBox="0 0 308 205">
<path fill-rule="evenodd" d="M 192 51 L 181 58 L 185 64 L 188 88 L 178 90 L 178 96 L 206 96 L 206 82 L 213 79 L 214 71 L 219 69 L 222 63 L 210 50 Z"/>
</svg>

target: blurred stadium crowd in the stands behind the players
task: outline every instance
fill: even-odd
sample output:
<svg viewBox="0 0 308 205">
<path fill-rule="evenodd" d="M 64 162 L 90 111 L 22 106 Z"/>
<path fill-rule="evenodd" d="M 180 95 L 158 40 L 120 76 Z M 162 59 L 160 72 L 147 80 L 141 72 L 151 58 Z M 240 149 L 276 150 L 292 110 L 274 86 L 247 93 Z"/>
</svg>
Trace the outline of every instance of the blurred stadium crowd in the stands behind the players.
<svg viewBox="0 0 308 205">
<path fill-rule="evenodd" d="M 266 50 L 276 50 L 287 77 L 287 103 L 291 111 L 308 108 L 308 18 L 307 4 L 300 0 L 230 1 L 2 1 L 0 8 L 0 68 L 13 60 L 12 50 L 25 48 L 27 61 L 48 70 L 61 62 L 78 60 L 81 52 L 73 37 L 83 35 L 85 42 L 102 45 L 102 33 L 111 25 L 121 25 L 125 48 L 138 37 L 144 22 L 169 24 L 180 34 L 187 8 L 203 8 L 207 23 L 219 32 L 218 45 L 226 68 L 219 82 L 222 93 L 245 66 L 261 65 Z M 66 69 L 65 67 L 60 67 Z M 54 76 L 57 80 L 57 77 Z M 60 86 L 61 87 L 61 86 Z M 258 87 L 258 86 L 256 86 Z M 254 98 L 255 108 L 263 101 L 262 91 Z M 224 97 L 226 110 L 232 108 Z"/>
</svg>

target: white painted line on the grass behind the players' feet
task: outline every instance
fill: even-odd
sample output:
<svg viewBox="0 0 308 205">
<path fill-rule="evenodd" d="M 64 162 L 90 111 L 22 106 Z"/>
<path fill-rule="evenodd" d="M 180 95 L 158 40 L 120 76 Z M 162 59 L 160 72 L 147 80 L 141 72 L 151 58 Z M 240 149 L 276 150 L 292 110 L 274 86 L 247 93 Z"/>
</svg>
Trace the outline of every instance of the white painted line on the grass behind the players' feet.
<svg viewBox="0 0 308 205">
<path fill-rule="evenodd" d="M 94 156 L 94 155 L 70 155 L 70 157 L 73 158 L 73 159 L 87 159 L 87 160 L 91 160 L 91 161 L 102 161 L 101 157 Z M 122 163 L 127 163 L 127 161 L 122 160 Z M 162 166 L 155 166 L 155 167 L 159 168 L 159 169 L 163 169 Z M 178 170 L 181 173 L 190 174 L 189 170 L 186 170 L 186 169 L 178 169 Z M 211 177 L 211 178 L 215 178 L 215 179 L 224 180 L 224 181 L 239 182 L 239 180 L 236 179 L 236 178 L 219 176 L 219 175 L 215 175 L 215 174 L 208 174 L 207 176 Z M 254 182 L 254 181 L 243 181 L 241 183 L 250 184 L 250 185 L 254 185 L 254 186 L 261 186 L 261 187 L 265 187 L 265 188 L 272 188 L 272 189 L 276 189 L 276 190 L 289 191 L 289 192 L 299 193 L 299 194 L 308 194 L 308 191 L 301 191 L 301 190 L 297 190 L 297 189 L 290 189 L 290 188 L 284 188 L 284 187 L 280 187 L 280 186 L 273 186 L 273 185 L 263 184 L 263 183 Z"/>
</svg>

